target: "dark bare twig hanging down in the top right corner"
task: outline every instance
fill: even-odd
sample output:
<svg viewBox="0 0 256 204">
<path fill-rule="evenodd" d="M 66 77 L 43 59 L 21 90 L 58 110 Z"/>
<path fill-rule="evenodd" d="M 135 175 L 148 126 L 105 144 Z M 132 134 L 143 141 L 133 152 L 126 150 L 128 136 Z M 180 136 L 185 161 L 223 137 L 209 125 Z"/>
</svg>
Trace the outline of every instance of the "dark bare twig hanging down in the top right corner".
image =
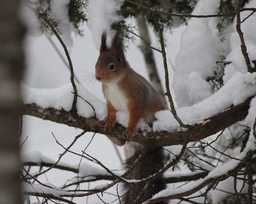
<svg viewBox="0 0 256 204">
<path fill-rule="evenodd" d="M 248 53 L 247 53 L 247 50 L 246 50 L 246 45 L 245 45 L 245 42 L 244 42 L 244 34 L 241 31 L 240 12 L 241 12 L 241 7 L 242 7 L 243 2 L 244 2 L 244 0 L 239 0 L 238 1 L 238 7 L 237 7 L 237 10 L 236 10 L 236 31 L 238 32 L 238 35 L 239 35 L 239 38 L 240 38 L 240 41 L 241 41 L 241 52 L 243 53 L 244 59 L 246 61 L 247 70 L 248 70 L 248 72 L 252 73 L 252 72 L 254 72 L 254 70 L 252 69 L 251 62 L 249 60 L 249 56 L 248 56 Z"/>
</svg>

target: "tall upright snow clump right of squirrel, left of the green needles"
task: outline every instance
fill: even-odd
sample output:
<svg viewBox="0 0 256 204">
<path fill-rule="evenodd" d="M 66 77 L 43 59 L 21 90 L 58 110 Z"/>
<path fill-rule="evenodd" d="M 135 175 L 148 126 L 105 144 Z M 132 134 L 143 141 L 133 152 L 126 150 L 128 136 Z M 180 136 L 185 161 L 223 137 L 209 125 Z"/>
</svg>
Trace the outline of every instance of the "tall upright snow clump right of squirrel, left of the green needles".
<svg viewBox="0 0 256 204">
<path fill-rule="evenodd" d="M 200 0 L 192 14 L 214 14 L 218 7 L 219 0 Z M 215 61 L 220 58 L 217 39 L 211 33 L 212 23 L 208 18 L 192 18 L 182 34 L 173 81 L 178 107 L 192 105 L 211 94 L 206 79 L 214 74 Z"/>
</svg>

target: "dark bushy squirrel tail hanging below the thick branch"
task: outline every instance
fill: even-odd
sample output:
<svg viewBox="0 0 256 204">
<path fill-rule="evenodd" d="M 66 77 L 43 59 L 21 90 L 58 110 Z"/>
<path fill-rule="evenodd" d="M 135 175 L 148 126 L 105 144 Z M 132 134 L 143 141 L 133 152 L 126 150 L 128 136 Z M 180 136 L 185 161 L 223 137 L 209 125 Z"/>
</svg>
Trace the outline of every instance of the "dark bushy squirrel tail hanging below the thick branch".
<svg viewBox="0 0 256 204">
<path fill-rule="evenodd" d="M 156 147 L 152 149 L 136 150 L 135 154 L 127 159 L 126 167 L 129 174 L 127 179 L 142 180 L 154 175 L 164 166 L 164 154 L 162 147 Z M 162 176 L 150 181 L 146 189 L 143 189 L 146 182 L 139 182 L 135 184 L 124 184 L 123 203 L 124 204 L 140 204 L 150 199 L 154 194 L 165 189 L 165 183 L 162 180 Z M 157 204 L 166 204 L 165 202 L 159 202 Z"/>
</svg>

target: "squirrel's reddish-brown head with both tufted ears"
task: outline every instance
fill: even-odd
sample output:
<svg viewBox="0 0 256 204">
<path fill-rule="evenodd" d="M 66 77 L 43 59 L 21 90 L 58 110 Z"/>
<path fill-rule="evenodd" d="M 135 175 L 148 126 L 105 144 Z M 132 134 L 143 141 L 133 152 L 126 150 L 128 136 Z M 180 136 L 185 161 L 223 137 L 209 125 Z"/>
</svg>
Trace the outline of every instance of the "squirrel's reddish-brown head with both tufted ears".
<svg viewBox="0 0 256 204">
<path fill-rule="evenodd" d="M 123 43 L 119 33 L 113 39 L 111 48 L 106 44 L 106 34 L 102 34 L 99 58 L 95 66 L 95 78 L 101 82 L 108 82 L 121 78 L 127 69 Z"/>
</svg>

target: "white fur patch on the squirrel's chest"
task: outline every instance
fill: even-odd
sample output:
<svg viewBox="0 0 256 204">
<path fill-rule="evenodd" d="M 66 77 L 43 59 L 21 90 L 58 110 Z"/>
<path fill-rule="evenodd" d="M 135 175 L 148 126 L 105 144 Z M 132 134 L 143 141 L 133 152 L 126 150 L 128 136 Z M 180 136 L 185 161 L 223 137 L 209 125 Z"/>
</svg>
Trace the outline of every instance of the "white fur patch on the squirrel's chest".
<svg viewBox="0 0 256 204">
<path fill-rule="evenodd" d="M 116 110 L 127 110 L 128 99 L 120 88 L 118 81 L 114 80 L 105 84 L 105 97 Z"/>
</svg>

